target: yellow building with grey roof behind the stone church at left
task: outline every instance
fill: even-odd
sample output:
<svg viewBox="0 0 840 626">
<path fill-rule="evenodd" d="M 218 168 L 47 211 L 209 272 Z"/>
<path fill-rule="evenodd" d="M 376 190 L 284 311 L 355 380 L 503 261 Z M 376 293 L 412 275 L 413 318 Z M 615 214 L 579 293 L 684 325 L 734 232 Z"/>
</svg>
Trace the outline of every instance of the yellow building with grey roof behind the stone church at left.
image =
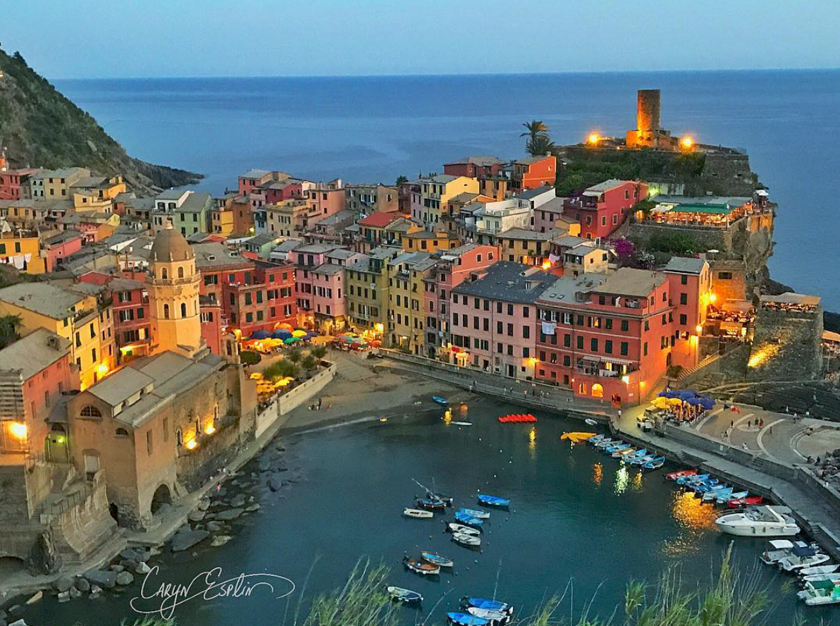
<svg viewBox="0 0 840 626">
<path fill-rule="evenodd" d="M 79 287 L 79 286 L 74 286 Z M 90 387 L 114 366 L 111 305 L 93 293 L 24 282 L 0 289 L 0 315 L 17 315 L 18 332 L 47 329 L 68 339 L 81 388 Z"/>
</svg>

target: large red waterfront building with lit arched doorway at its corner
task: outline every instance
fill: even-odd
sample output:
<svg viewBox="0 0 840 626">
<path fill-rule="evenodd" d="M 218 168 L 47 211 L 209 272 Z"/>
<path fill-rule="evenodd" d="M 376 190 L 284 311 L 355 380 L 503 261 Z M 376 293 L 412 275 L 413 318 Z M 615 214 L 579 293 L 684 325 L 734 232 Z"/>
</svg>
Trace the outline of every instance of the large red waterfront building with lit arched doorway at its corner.
<svg viewBox="0 0 840 626">
<path fill-rule="evenodd" d="M 688 317 L 680 324 L 688 316 L 680 306 L 690 304 L 675 302 L 691 288 L 697 291 L 686 302 L 707 302 L 703 263 L 697 281 L 685 285 L 680 273 L 627 267 L 555 282 L 537 300 L 537 379 L 621 406 L 638 404 L 669 366 L 695 365 L 699 332 Z"/>
</svg>

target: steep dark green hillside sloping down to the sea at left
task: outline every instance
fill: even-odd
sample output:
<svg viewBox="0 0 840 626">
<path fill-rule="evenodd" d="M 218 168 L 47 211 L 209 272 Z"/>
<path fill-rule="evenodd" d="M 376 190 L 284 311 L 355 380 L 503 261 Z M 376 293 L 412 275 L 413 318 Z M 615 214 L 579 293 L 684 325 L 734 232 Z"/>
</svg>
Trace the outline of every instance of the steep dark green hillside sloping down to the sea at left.
<svg viewBox="0 0 840 626">
<path fill-rule="evenodd" d="M 121 173 L 133 191 L 180 187 L 202 176 L 126 154 L 92 116 L 76 107 L 17 52 L 0 50 L 0 142 L 12 166 L 84 166 Z"/>
</svg>

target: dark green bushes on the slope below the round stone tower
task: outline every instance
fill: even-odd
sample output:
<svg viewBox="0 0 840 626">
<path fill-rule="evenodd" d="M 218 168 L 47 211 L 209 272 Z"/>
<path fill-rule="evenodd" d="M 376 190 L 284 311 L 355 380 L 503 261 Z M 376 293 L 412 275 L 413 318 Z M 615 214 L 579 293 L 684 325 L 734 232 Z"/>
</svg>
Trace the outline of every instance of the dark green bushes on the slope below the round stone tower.
<svg viewBox="0 0 840 626">
<path fill-rule="evenodd" d="M 563 176 L 557 184 L 560 196 L 597 185 L 610 178 L 620 180 L 673 180 L 686 187 L 700 186 L 706 162 L 703 152 L 685 154 L 654 150 L 597 150 L 570 146 L 564 150 Z"/>
</svg>

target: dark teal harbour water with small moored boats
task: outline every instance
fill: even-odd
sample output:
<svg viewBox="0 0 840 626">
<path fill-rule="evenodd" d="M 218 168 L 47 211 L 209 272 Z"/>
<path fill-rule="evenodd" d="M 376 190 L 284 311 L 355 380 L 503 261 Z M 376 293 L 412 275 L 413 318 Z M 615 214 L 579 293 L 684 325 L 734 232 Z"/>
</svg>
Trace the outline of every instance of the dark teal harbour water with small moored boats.
<svg viewBox="0 0 840 626">
<path fill-rule="evenodd" d="M 400 609 L 402 624 L 443 624 L 465 596 L 510 602 L 520 618 L 562 597 L 555 617 L 578 623 L 587 610 L 593 620 L 621 614 L 628 581 L 648 585 L 649 598 L 662 576 L 680 580 L 686 591 L 706 590 L 731 547 L 738 587 L 770 598 L 759 623 L 795 623 L 803 607 L 792 576 L 759 561 L 767 540 L 717 532 L 720 508 L 664 480 L 679 466 L 642 473 L 589 445 L 570 445 L 561 434 L 591 427 L 556 413 L 535 413 L 537 423 L 496 421 L 521 411 L 475 397 L 455 404 L 447 419 L 444 408 L 426 398 L 421 406 L 389 410 L 385 422 L 285 435 L 279 443 L 287 469 L 276 476 L 286 486 L 278 492 L 266 487 L 269 474 L 260 472 L 259 458 L 244 467 L 253 487 L 227 486 L 254 496 L 261 507 L 232 523 L 227 544 L 212 549 L 206 539 L 187 552 L 165 552 L 151 561 L 160 569 L 145 577 L 144 587 L 138 580 L 97 600 L 65 604 L 45 597 L 23 617 L 50 626 L 132 623 L 138 611 L 160 611 L 166 589 L 193 581 L 191 592 L 176 598 L 183 600 L 171 615 L 177 626 L 291 626 L 304 622 L 313 597 L 344 585 L 361 560 L 386 566 L 388 583 L 423 594 L 421 608 Z M 263 453 L 267 460 L 275 455 L 276 445 Z M 423 497 L 417 482 L 453 497 L 454 508 L 480 508 L 476 492 L 507 497 L 511 506 L 486 509 L 491 516 L 480 550 L 471 550 L 444 532 L 454 508 L 433 519 L 402 516 Z M 403 569 L 403 555 L 417 557 L 421 550 L 448 556 L 454 567 L 438 576 Z M 201 595 L 204 573 L 215 568 L 221 571 L 212 581 L 260 575 L 247 580 L 274 588 L 255 587 L 240 597 Z M 805 614 L 808 623 L 840 623 L 837 608 Z"/>
</svg>

